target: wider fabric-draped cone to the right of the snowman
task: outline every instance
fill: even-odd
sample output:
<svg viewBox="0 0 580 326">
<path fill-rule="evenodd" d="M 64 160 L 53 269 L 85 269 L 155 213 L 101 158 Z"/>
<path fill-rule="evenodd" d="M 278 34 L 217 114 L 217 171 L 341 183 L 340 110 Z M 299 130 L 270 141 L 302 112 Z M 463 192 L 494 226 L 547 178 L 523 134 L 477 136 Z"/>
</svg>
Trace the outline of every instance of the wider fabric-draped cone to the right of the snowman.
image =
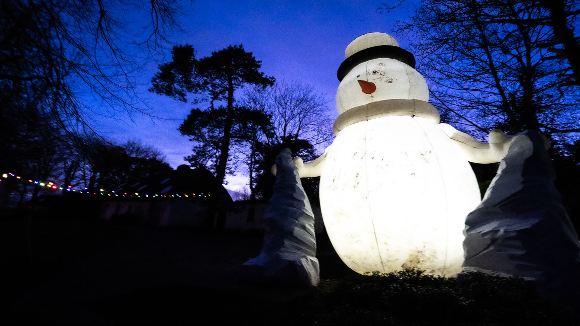
<svg viewBox="0 0 580 326">
<path fill-rule="evenodd" d="M 481 204 L 466 219 L 463 270 L 535 280 L 546 295 L 580 305 L 580 244 L 554 187 L 545 139 L 514 136 Z"/>
</svg>

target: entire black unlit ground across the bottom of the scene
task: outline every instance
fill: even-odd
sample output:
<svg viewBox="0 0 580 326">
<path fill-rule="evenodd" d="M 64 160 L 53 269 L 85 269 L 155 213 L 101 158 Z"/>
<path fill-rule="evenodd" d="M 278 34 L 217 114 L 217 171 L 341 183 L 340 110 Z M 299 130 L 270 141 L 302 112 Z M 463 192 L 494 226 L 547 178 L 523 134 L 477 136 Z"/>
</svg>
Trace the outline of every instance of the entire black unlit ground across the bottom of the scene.
<svg viewBox="0 0 580 326">
<path fill-rule="evenodd" d="M 361 276 L 325 236 L 320 285 L 296 288 L 241 280 L 258 234 L 2 213 L 0 325 L 580 325 L 521 278 Z"/>
</svg>

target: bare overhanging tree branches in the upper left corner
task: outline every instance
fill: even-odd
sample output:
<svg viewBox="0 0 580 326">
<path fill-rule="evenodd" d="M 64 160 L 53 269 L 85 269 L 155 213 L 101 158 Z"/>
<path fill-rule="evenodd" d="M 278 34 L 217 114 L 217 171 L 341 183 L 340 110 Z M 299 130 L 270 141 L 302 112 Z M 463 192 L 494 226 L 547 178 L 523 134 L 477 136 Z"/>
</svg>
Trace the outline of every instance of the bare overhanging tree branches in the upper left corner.
<svg viewBox="0 0 580 326">
<path fill-rule="evenodd" d="M 94 110 L 86 95 L 110 110 L 139 111 L 128 102 L 135 72 L 180 13 L 178 2 L 162 0 L 0 2 L 3 103 L 34 104 L 63 129 L 86 126 Z"/>
</svg>

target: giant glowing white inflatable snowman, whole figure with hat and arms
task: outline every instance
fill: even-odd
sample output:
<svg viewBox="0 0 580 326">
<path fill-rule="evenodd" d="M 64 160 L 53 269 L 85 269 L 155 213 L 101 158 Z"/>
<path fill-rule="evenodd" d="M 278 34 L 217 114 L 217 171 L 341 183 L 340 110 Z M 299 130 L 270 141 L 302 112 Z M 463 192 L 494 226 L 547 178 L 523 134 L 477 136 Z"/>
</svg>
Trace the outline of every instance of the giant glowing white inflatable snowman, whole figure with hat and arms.
<svg viewBox="0 0 580 326">
<path fill-rule="evenodd" d="M 338 70 L 336 139 L 317 160 L 328 236 L 351 269 L 461 271 L 467 214 L 480 203 L 468 161 L 499 162 L 510 137 L 489 143 L 439 124 L 414 56 L 385 33 L 354 39 Z"/>
</svg>

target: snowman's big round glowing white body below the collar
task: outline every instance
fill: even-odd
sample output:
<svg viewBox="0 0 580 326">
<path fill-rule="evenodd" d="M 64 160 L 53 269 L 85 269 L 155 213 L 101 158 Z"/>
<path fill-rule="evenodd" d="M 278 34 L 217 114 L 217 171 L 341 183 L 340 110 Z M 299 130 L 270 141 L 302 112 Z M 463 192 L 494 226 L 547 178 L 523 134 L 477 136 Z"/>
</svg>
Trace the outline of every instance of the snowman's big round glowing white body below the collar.
<svg viewBox="0 0 580 326">
<path fill-rule="evenodd" d="M 433 121 L 384 117 L 339 133 L 320 202 L 333 247 L 358 273 L 451 275 L 461 270 L 465 216 L 480 193 L 465 156 Z"/>
</svg>

